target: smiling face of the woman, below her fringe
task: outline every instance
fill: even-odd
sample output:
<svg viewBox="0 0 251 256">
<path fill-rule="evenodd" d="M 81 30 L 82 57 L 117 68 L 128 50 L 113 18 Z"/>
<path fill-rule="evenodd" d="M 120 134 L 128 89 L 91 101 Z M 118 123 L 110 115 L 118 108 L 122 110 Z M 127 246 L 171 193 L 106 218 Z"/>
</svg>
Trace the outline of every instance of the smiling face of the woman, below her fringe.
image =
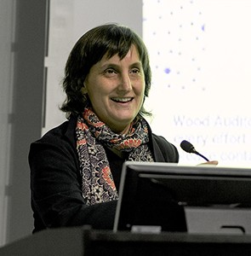
<svg viewBox="0 0 251 256">
<path fill-rule="evenodd" d="M 118 55 L 110 59 L 104 55 L 91 67 L 83 87 L 94 113 L 117 133 L 128 132 L 143 104 L 144 92 L 144 72 L 134 45 L 122 60 Z"/>
</svg>

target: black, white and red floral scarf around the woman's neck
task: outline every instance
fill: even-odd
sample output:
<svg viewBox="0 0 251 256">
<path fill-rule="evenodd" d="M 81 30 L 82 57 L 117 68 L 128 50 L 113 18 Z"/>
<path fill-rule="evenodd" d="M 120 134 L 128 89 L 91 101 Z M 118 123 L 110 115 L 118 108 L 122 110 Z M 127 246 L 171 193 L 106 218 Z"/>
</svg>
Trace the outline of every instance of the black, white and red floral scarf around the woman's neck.
<svg viewBox="0 0 251 256">
<path fill-rule="evenodd" d="M 134 120 L 128 134 L 117 134 L 101 122 L 91 108 L 85 108 L 83 116 L 77 118 L 76 134 L 83 198 L 88 205 L 118 199 L 104 146 L 128 152 L 128 160 L 153 161 L 143 118 Z"/>
</svg>

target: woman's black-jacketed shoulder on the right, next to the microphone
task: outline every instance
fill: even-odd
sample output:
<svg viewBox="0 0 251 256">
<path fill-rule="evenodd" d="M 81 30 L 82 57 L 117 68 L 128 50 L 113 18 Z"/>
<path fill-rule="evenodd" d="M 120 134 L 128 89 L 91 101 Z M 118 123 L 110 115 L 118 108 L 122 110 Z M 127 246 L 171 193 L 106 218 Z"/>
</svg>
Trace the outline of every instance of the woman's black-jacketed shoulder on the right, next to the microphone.
<svg viewBox="0 0 251 256">
<path fill-rule="evenodd" d="M 169 143 L 163 136 L 158 136 L 154 133 L 151 134 L 152 143 L 158 155 L 161 154 L 166 162 L 177 163 L 179 161 L 179 153 L 174 144 Z"/>
</svg>

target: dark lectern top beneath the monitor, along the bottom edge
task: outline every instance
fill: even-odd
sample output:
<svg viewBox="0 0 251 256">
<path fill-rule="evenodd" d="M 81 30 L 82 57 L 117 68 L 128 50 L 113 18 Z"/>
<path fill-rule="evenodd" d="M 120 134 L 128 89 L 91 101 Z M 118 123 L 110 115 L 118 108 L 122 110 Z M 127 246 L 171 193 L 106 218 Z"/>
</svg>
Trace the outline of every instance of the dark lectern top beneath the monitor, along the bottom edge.
<svg viewBox="0 0 251 256">
<path fill-rule="evenodd" d="M 140 234 L 64 228 L 44 230 L 0 248 L 1 256 L 249 255 L 248 235 Z"/>
</svg>

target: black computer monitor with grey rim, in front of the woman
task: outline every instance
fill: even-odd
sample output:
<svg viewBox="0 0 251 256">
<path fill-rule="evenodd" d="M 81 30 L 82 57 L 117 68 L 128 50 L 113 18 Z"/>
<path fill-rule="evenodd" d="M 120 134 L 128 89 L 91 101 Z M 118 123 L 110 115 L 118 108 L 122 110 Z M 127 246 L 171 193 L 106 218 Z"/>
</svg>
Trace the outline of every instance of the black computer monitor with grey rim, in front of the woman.
<svg viewBox="0 0 251 256">
<path fill-rule="evenodd" d="M 128 161 L 114 231 L 250 233 L 250 206 L 251 169 Z"/>
</svg>

